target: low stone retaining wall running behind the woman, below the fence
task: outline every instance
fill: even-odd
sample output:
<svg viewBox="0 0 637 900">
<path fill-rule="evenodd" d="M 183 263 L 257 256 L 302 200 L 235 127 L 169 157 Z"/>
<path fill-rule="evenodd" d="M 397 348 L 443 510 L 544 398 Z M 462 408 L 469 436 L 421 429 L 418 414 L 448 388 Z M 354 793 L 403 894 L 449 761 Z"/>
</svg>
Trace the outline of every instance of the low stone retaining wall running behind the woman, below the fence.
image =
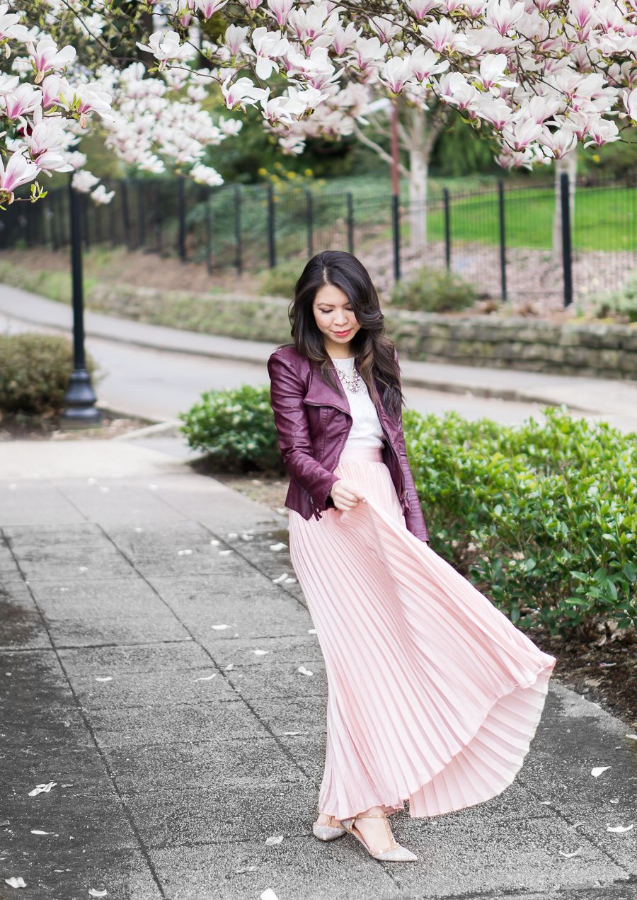
<svg viewBox="0 0 637 900">
<path fill-rule="evenodd" d="M 283 344 L 289 302 L 276 297 L 164 293 L 121 287 L 91 293 L 112 315 L 229 338 Z M 637 324 L 561 324 L 527 317 L 444 316 L 384 308 L 387 333 L 409 359 L 637 380 Z"/>
</svg>

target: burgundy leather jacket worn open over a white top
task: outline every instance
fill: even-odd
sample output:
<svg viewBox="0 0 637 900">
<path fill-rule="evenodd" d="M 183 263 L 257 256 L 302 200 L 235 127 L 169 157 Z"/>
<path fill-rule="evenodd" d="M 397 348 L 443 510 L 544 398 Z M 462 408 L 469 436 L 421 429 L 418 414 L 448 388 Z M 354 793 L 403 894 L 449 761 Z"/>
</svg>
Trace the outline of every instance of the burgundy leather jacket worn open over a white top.
<svg viewBox="0 0 637 900">
<path fill-rule="evenodd" d="M 274 350 L 267 371 L 279 447 L 291 475 L 285 506 L 303 518 L 321 518 L 322 510 L 335 508 L 329 491 L 338 481 L 334 470 L 352 428 L 345 389 L 338 382 L 339 390 L 335 392 L 321 378 L 318 365 L 300 356 L 293 344 Z M 408 530 L 427 541 L 425 519 L 408 463 L 402 416 L 399 422 L 391 419 L 381 402 L 379 419 L 384 435 L 382 460 L 390 470 Z"/>
</svg>

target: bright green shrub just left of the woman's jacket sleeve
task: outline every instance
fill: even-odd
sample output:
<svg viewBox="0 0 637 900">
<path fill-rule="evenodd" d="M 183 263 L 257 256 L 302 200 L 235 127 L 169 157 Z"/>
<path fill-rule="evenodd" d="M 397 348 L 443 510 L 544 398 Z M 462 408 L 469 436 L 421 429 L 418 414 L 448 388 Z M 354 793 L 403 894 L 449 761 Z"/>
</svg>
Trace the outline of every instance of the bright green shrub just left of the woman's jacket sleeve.
<svg viewBox="0 0 637 900">
<path fill-rule="evenodd" d="M 208 453 L 229 472 L 257 469 L 283 473 L 269 387 L 244 384 L 229 391 L 202 393 L 201 401 L 179 414 L 188 444 Z"/>
</svg>

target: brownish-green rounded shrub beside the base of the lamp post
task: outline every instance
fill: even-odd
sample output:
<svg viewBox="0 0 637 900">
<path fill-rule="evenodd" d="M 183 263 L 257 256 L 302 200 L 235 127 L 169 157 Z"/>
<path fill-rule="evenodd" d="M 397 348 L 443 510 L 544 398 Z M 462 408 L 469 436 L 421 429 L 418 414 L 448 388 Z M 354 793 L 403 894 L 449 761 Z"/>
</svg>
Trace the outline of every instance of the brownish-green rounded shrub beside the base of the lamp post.
<svg viewBox="0 0 637 900">
<path fill-rule="evenodd" d="M 86 369 L 95 364 L 86 356 Z M 58 335 L 0 335 L 0 413 L 18 416 L 57 415 L 64 409 L 73 371 L 73 344 Z"/>
</svg>

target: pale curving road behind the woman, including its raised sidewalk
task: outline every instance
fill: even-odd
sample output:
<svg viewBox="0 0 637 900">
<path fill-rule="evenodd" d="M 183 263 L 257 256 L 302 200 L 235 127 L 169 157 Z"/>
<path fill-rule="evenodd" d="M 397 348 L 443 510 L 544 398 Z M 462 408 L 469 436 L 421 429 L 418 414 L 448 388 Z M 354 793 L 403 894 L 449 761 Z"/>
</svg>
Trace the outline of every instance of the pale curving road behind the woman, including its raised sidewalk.
<svg viewBox="0 0 637 900">
<path fill-rule="evenodd" d="M 86 313 L 87 346 L 107 372 L 100 399 L 112 408 L 172 419 L 208 388 L 268 383 L 274 344 L 237 340 Z M 71 311 L 0 285 L 0 329 L 70 333 Z M 456 410 L 519 422 L 540 418 L 539 404 L 561 405 L 637 431 L 637 383 L 401 360 L 408 405 L 419 412 Z M 508 401 L 508 402 L 503 402 Z M 143 410 L 146 410 L 144 412 Z"/>
</svg>

